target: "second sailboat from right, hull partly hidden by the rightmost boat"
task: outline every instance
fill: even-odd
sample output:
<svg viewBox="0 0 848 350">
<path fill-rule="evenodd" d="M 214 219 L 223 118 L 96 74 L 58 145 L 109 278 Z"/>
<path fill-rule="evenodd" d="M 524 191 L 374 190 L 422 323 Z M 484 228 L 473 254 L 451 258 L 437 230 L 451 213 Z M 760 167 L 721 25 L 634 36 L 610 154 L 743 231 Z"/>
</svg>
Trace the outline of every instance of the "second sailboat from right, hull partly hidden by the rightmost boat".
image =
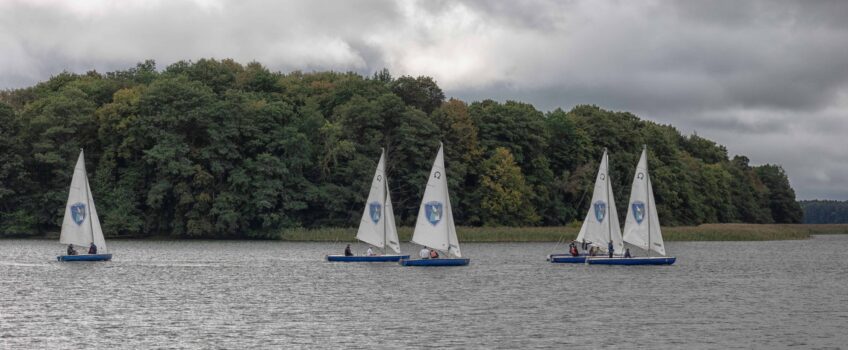
<svg viewBox="0 0 848 350">
<path fill-rule="evenodd" d="M 621 239 L 621 228 L 618 224 L 618 212 L 615 209 L 615 197 L 609 177 L 609 156 L 604 148 L 604 155 L 598 167 L 598 175 L 595 178 L 595 189 L 592 192 L 592 202 L 589 212 L 580 227 L 576 242 L 588 243 L 597 247 L 600 252 L 606 252 L 609 242 L 612 242 L 614 252 L 619 254 L 623 251 L 624 243 Z M 552 263 L 585 263 L 585 252 L 582 255 L 551 254 L 548 261 Z"/>
</svg>

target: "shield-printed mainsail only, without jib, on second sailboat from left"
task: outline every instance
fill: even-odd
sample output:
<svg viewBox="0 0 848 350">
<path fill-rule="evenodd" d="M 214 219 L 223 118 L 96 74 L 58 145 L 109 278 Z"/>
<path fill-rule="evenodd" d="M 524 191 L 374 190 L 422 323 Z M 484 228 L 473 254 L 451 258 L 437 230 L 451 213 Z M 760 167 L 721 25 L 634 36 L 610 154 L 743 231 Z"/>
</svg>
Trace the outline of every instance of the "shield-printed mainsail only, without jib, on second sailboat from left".
<svg viewBox="0 0 848 350">
<path fill-rule="evenodd" d="M 380 155 L 356 239 L 383 248 L 386 237 L 386 154 Z M 392 220 L 394 221 L 394 220 Z"/>
</svg>

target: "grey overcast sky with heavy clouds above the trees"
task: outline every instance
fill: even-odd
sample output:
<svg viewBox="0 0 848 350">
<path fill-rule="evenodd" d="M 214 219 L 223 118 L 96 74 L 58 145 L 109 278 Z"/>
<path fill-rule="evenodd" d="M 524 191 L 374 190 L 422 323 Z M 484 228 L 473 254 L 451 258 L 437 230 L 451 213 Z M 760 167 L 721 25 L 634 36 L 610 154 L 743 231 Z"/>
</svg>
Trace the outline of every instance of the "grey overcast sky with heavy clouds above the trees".
<svg viewBox="0 0 848 350">
<path fill-rule="evenodd" d="M 0 89 L 214 57 L 596 104 L 781 164 L 798 199 L 848 199 L 845 1 L 0 0 L 0 48 Z"/>
</svg>

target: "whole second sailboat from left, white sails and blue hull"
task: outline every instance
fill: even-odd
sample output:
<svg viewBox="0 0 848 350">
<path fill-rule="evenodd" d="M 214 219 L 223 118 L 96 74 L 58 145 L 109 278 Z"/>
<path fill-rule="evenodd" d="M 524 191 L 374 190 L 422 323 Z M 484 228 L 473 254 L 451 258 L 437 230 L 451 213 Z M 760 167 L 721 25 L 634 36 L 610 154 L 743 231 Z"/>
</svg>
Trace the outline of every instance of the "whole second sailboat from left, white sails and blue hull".
<svg viewBox="0 0 848 350">
<path fill-rule="evenodd" d="M 359 221 L 359 230 L 356 232 L 356 239 L 380 249 L 389 247 L 400 254 L 400 240 L 397 237 L 395 215 L 392 210 L 392 198 L 389 195 L 388 179 L 386 179 L 385 149 L 382 151 L 380 161 L 377 163 L 374 179 L 371 180 L 371 192 L 368 193 L 368 199 L 365 201 L 365 211 L 362 213 L 362 220 Z M 327 261 L 345 262 L 398 261 L 401 258 L 408 259 L 409 255 L 327 255 Z"/>
</svg>

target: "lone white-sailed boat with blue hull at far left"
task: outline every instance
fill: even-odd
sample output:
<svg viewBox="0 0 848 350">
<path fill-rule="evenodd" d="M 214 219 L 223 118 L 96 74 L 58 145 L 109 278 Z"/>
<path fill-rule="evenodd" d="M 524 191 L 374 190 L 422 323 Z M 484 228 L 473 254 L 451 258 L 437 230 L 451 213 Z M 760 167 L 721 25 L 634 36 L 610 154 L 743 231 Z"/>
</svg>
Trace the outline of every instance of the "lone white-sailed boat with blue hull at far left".
<svg viewBox="0 0 848 350">
<path fill-rule="evenodd" d="M 60 255 L 59 261 L 107 261 L 112 254 L 106 254 L 106 240 L 97 218 L 94 207 L 94 197 L 88 184 L 88 174 L 85 171 L 85 156 L 80 150 L 71 188 L 68 191 L 68 203 L 65 205 L 65 219 L 62 221 L 62 233 L 59 243 L 73 244 L 87 249 L 91 243 L 97 246 L 99 254 Z"/>
</svg>

